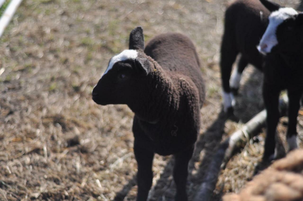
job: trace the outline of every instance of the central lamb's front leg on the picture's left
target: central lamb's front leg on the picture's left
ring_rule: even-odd
[[[148,197],[148,191],[151,188],[152,184],[152,161],[154,158],[154,152],[145,149],[145,147],[141,145],[140,141],[136,139],[134,143],[134,152],[138,163],[137,201],[146,201]]]

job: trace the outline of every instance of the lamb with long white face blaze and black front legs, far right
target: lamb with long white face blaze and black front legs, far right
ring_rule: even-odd
[[[274,158],[275,132],[279,120],[278,99],[281,90],[288,93],[289,150],[298,147],[297,116],[303,92],[303,13],[260,0],[268,10],[269,23],[258,45],[264,57],[263,99],[267,110],[267,134],[263,159]]]

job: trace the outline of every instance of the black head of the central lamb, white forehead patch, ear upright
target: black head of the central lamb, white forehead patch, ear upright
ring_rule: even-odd
[[[154,70],[143,48],[143,30],[137,27],[130,34],[129,50],[110,59],[105,73],[93,89],[92,98],[97,104],[129,104],[141,98],[141,88]]]

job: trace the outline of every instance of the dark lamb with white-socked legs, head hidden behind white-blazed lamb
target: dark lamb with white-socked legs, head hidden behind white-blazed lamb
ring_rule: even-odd
[[[262,56],[256,49],[268,25],[270,11],[259,0],[237,0],[225,12],[224,34],[221,43],[221,79],[223,108],[231,114],[235,104],[241,74],[248,63],[262,70]],[[231,75],[232,64],[241,53]]]

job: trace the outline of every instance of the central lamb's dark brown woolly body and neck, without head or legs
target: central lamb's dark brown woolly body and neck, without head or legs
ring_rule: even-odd
[[[190,39],[176,33],[158,35],[144,52],[154,67],[142,91],[147,105],[130,106],[134,135],[155,153],[177,153],[195,143],[200,129],[205,89],[199,59]]]

